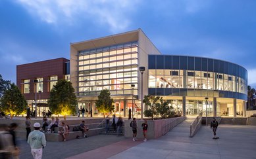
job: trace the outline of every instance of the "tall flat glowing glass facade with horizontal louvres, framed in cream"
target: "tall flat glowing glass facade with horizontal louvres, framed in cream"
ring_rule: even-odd
[[[78,96],[138,94],[138,42],[78,52]]]

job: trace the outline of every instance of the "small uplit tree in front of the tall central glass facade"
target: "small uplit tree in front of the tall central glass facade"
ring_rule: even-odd
[[[114,111],[115,106],[113,105],[114,99],[111,98],[109,90],[101,90],[101,93],[96,100],[96,107],[100,113],[103,113],[105,118],[105,113],[110,113]]]

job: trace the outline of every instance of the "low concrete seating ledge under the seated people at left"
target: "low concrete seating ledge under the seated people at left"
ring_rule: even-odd
[[[93,135],[98,135],[102,130],[103,128],[93,128],[88,130],[88,132],[86,132],[86,135],[88,135],[88,137]],[[66,135],[66,141],[76,139],[76,136],[78,135],[83,136],[84,134],[82,134],[82,131],[78,131],[78,132],[70,131]],[[46,138],[46,141],[63,141],[63,136],[59,135],[59,133],[45,133],[45,138]]]

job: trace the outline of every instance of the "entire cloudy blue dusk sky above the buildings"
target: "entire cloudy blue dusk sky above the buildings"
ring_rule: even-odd
[[[16,83],[16,65],[138,28],[162,54],[242,65],[256,88],[255,0],[0,0],[0,74]]]

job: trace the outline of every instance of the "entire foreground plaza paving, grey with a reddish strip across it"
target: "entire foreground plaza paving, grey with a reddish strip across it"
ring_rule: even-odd
[[[220,139],[213,140],[209,126],[189,137],[190,123],[191,119],[185,120],[166,135],[147,142],[115,135],[47,142],[43,158],[256,158],[256,126],[220,125]],[[23,139],[19,143],[20,158],[32,158],[29,145]]]

